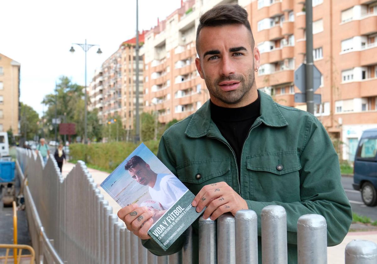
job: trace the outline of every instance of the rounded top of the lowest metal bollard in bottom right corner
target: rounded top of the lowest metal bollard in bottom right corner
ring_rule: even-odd
[[[352,240],[346,246],[346,264],[377,263],[377,244],[367,240]]]

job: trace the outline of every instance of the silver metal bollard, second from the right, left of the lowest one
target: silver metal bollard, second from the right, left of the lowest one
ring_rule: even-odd
[[[322,215],[300,216],[297,221],[297,255],[300,264],[327,263],[327,224]]]

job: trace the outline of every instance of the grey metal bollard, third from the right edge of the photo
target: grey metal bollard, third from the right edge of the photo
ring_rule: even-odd
[[[270,205],[262,209],[262,263],[287,264],[287,213],[284,207]]]

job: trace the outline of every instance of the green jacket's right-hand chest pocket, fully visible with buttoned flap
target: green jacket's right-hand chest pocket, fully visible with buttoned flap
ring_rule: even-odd
[[[246,162],[251,200],[300,201],[301,164],[296,150],[254,154]]]

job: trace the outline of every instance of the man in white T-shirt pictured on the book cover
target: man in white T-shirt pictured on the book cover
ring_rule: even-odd
[[[139,184],[149,186],[150,196],[161,204],[163,210],[152,210],[154,221],[160,218],[187,191],[187,187],[174,175],[155,173],[149,164],[139,156],[135,155],[130,158],[124,169],[128,170],[131,177]]]

